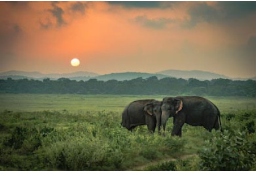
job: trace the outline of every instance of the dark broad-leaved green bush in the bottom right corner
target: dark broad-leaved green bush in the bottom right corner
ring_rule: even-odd
[[[212,139],[199,151],[201,170],[250,170],[255,163],[255,154],[246,133],[220,131],[212,133]]]

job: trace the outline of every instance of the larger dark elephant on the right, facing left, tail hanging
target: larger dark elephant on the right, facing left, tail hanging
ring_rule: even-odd
[[[209,132],[221,127],[220,111],[203,97],[166,97],[162,103],[161,124],[166,130],[166,121],[170,116],[174,117],[172,136],[181,137],[181,128],[184,123],[192,126],[203,126]]]

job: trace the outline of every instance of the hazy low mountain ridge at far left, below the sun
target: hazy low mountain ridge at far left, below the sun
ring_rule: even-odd
[[[97,73],[93,72],[73,72],[73,73],[50,73],[50,74],[43,74],[40,72],[23,72],[18,70],[11,70],[7,72],[0,73],[0,76],[5,77],[11,77],[11,76],[23,76],[27,78],[36,78],[36,79],[42,79],[42,78],[51,78],[51,79],[57,79],[57,78],[71,78],[71,77],[95,77],[97,76]]]

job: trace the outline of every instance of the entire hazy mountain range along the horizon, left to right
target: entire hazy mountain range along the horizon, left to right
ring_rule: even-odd
[[[58,78],[69,78],[75,79],[77,81],[84,80],[87,81],[89,79],[98,79],[100,81],[108,81],[110,79],[116,79],[118,81],[123,80],[130,80],[135,78],[148,78],[156,76],[158,79],[166,78],[166,77],[175,77],[175,78],[196,78],[199,80],[211,80],[217,78],[224,78],[224,79],[234,79],[234,80],[246,80],[246,79],[253,79],[256,80],[256,76],[253,78],[230,78],[222,74],[212,73],[212,72],[204,72],[200,70],[164,70],[157,73],[141,73],[141,72],[124,72],[124,73],[110,73],[99,75],[93,72],[73,72],[73,73],[51,73],[51,74],[43,74],[40,72],[24,72],[24,71],[17,71],[11,70],[8,72],[0,73],[0,79],[38,79],[42,80],[45,78],[50,79],[58,79]]]

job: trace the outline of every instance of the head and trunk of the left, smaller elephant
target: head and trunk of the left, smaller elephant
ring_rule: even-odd
[[[156,126],[158,127],[159,133],[160,133],[161,114],[162,114],[161,106],[162,106],[162,101],[158,101],[158,100],[154,100],[153,102],[147,103],[144,106],[144,111],[146,111],[148,115],[155,116]]]

